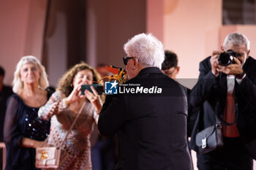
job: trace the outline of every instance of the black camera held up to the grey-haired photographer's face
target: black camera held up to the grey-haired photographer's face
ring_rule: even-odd
[[[233,50],[227,50],[227,52],[220,53],[219,55],[219,65],[228,66],[230,63],[236,63],[234,57],[238,57],[238,53],[233,52]]]

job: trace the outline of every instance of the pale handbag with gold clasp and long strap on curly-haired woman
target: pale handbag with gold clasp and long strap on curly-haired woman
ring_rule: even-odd
[[[83,102],[82,107],[80,108],[78,115],[75,117],[74,122],[69,128],[64,140],[61,142],[60,147],[42,147],[48,141],[45,139],[45,142],[42,143],[41,147],[36,148],[36,167],[37,169],[56,169],[59,167],[59,160],[61,158],[61,148],[67,140],[67,136],[69,135],[70,131],[72,130],[75,122],[78,120],[81,112],[83,111],[83,107],[85,107],[86,102]]]

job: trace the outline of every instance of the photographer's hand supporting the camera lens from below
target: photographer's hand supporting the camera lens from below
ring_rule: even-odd
[[[241,68],[241,62],[234,58],[234,61],[236,63],[231,63],[228,66],[219,66],[218,71],[223,72],[227,75],[233,74],[233,75],[239,75],[243,73],[243,69]]]

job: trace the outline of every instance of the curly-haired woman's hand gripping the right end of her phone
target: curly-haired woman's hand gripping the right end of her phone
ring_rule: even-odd
[[[99,94],[92,85],[90,88],[93,91],[93,93],[91,93],[89,90],[86,90],[85,96],[89,99],[89,101],[91,101],[91,104],[94,104],[94,107],[97,109],[97,112],[99,113],[99,111],[102,109],[102,100],[100,99]]]

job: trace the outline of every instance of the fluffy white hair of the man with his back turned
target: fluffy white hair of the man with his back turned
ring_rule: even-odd
[[[124,45],[124,51],[129,57],[136,57],[146,67],[156,66],[161,69],[165,60],[165,50],[162,42],[151,34],[138,34]]]

